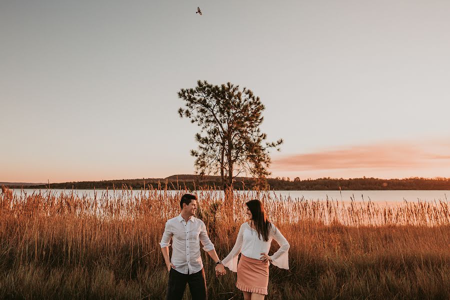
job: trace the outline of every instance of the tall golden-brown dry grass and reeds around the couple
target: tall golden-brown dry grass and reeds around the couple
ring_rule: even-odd
[[[167,271],[158,242],[184,192],[2,194],[0,298],[164,298]],[[198,217],[221,257],[244,221],[244,202],[264,202],[291,245],[290,269],[270,267],[268,299],[450,298],[446,200],[378,206],[270,192],[235,193],[232,202],[214,190],[196,194]],[[235,273],[215,278],[202,255],[209,297],[241,299]]]

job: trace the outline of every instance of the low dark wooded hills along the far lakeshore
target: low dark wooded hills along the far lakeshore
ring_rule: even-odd
[[[7,184],[9,187],[48,188],[48,184],[31,183],[32,185]],[[6,184],[5,184],[6,185]],[[236,177],[235,189],[253,189],[261,186],[261,180],[251,177]],[[394,190],[394,189],[424,189],[424,190],[450,190],[450,178],[317,178],[300,180],[298,177],[266,178],[262,182],[264,189],[274,190]],[[102,181],[77,181],[50,183],[50,188],[88,189],[88,188],[157,188],[157,189],[198,189],[212,187],[221,189],[219,176],[199,176],[190,174],[171,175],[166,178],[117,179]]]

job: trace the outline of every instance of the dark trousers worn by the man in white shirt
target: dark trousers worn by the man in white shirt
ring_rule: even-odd
[[[189,284],[192,300],[207,300],[206,279],[204,277],[204,268],[196,273],[183,274],[171,268],[169,271],[169,280],[167,284],[167,300],[181,300]]]

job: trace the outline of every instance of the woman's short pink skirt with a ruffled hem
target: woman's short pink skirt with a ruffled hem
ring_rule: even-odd
[[[240,254],[236,287],[242,291],[267,294],[268,262]]]

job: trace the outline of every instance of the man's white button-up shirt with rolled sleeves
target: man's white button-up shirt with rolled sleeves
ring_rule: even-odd
[[[181,214],[167,220],[159,243],[161,248],[170,246],[170,238],[172,239],[170,262],[175,266],[175,270],[183,274],[192,274],[203,268],[199,241],[203,245],[203,250],[214,249],[204,222],[193,216],[187,222]]]

